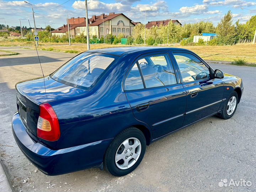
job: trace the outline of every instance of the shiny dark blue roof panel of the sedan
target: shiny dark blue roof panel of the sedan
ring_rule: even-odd
[[[175,47],[114,47],[114,48],[103,48],[103,49],[94,49],[90,50],[89,52],[93,53],[105,53],[105,54],[112,54],[112,55],[118,55],[121,56],[125,53],[133,53],[138,51],[160,51],[160,50],[186,50],[187,49],[181,49],[181,48],[175,48]]]

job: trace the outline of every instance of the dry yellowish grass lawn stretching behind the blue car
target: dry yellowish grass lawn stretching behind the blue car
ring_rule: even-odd
[[[33,46],[33,42],[8,42],[0,41],[0,46]],[[91,44],[91,49],[125,47],[126,45],[112,44]],[[244,59],[246,65],[255,66],[256,63],[256,44],[240,44],[235,46],[169,46],[192,50],[204,60],[219,60],[232,62],[235,59]],[[66,53],[80,53],[87,50],[86,44],[72,44],[69,46],[64,43],[40,43],[39,49],[49,51],[62,51]],[[0,47],[1,49],[1,47]],[[253,63],[253,64],[250,64]]]

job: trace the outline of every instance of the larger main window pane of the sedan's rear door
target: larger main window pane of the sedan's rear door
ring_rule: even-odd
[[[144,57],[138,60],[146,88],[177,83],[174,69],[167,54]]]

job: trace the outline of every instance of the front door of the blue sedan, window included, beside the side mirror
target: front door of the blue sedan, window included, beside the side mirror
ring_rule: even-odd
[[[183,126],[216,113],[223,102],[223,81],[212,78],[209,66],[197,55],[173,52],[173,56],[187,94]]]

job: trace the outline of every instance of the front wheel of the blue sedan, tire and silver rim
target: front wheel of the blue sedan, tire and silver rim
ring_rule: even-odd
[[[231,107],[230,107],[230,103],[233,103],[233,104],[231,104]],[[226,100],[225,105],[223,106],[223,109],[222,109],[222,114],[220,115],[220,117],[222,119],[231,118],[235,114],[237,106],[238,106],[238,94],[235,91],[233,91],[231,93],[231,95],[229,96],[229,98]]]

